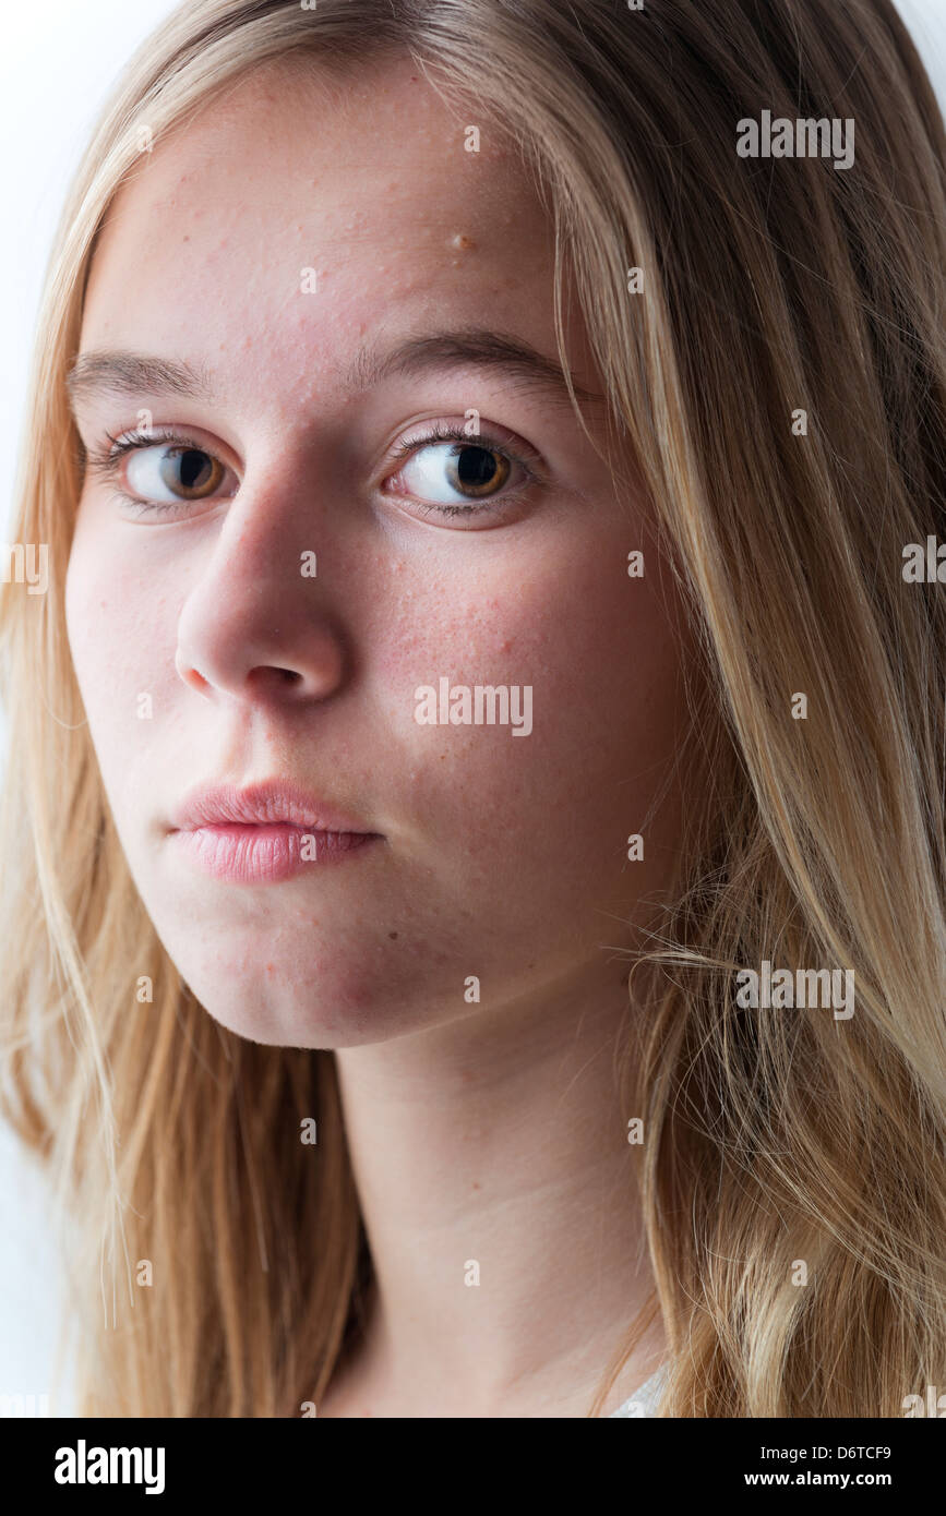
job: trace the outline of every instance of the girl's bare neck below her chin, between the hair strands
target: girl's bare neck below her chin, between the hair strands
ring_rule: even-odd
[[[614,1072],[626,984],[581,1001],[337,1054],[374,1286],[320,1414],[587,1414],[653,1280]],[[603,1414],[661,1355],[658,1319]]]

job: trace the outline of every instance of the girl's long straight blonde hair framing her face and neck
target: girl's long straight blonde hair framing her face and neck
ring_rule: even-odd
[[[300,1414],[370,1275],[334,1055],[217,1025],[121,852],[65,635],[65,377],[143,133],[262,62],[385,49],[532,165],[559,344],[570,274],[713,694],[714,787],[622,1066],[661,1413],[899,1416],[946,1384],[946,611],[901,572],[946,540],[946,143],[888,0],[191,0],[127,67],[41,311],[15,532],[49,544],[49,593],[0,602],[3,1108],[70,1217],[82,1408]],[[740,159],[764,109],[854,120],[855,164]],[[855,1014],[740,1008],[764,960],[854,969]],[[314,1111],[315,1155],[287,1119]]]

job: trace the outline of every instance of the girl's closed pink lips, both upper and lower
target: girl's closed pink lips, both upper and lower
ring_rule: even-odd
[[[282,782],[193,790],[170,835],[206,873],[235,884],[276,884],[381,841],[379,832]]]

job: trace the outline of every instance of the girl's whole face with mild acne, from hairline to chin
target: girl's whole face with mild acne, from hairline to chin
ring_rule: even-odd
[[[623,994],[606,949],[676,846],[678,790],[647,813],[681,653],[644,500],[555,379],[552,270],[515,155],[406,61],[244,79],[102,232],[77,423],[147,446],[86,473],[70,643],[156,931],[255,1041]],[[596,391],[576,317],[569,346]],[[267,782],[309,800],[183,814]]]

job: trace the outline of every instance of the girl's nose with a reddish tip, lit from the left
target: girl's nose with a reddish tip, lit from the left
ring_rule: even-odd
[[[335,694],[344,637],[317,568],[314,543],[300,541],[299,487],[241,488],[180,611],[179,678],[208,699]]]

